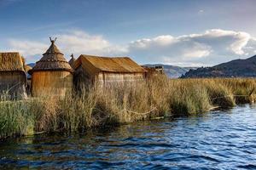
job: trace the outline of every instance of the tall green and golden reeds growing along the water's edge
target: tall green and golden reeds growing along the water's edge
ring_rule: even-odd
[[[0,100],[0,139],[38,132],[75,132],[90,127],[201,114],[213,106],[253,103],[254,79],[154,77],[137,85],[87,88],[64,99]],[[249,95],[252,94],[252,95]]]

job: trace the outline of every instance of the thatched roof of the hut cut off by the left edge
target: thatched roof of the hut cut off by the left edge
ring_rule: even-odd
[[[23,71],[24,63],[18,52],[0,53],[0,71]]]

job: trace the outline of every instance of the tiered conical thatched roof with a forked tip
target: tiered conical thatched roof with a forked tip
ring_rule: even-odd
[[[42,59],[40,59],[36,65],[29,71],[30,74],[34,71],[70,71],[73,69],[68,64],[64,55],[55,46],[55,40],[50,38],[51,45],[49,49],[43,54]]]

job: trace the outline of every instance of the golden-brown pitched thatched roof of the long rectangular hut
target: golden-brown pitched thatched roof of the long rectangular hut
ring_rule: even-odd
[[[89,68],[93,71],[100,72],[119,72],[134,73],[146,72],[142,66],[137,65],[135,61],[129,57],[100,57],[82,54],[73,64],[73,69],[77,69],[79,65]]]

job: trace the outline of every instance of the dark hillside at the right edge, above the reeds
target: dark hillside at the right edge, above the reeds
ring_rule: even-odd
[[[190,70],[182,77],[256,77],[256,55],[248,59],[235,59],[212,67]]]

